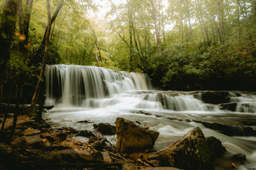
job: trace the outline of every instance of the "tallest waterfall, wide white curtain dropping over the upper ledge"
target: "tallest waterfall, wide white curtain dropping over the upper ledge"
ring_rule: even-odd
[[[64,64],[46,66],[45,72],[45,103],[48,105],[61,103],[81,106],[84,100],[90,103],[91,99],[103,99],[126,91],[151,89],[148,75],[141,73]]]

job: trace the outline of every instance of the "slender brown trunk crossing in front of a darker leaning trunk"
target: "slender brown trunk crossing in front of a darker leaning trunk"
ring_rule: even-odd
[[[32,111],[31,113],[35,111],[35,104],[37,102],[37,98],[41,89],[42,80],[44,78],[45,65],[46,65],[46,60],[47,60],[48,50],[49,50],[49,37],[50,37],[52,23],[51,23],[51,13],[50,13],[50,2],[49,0],[46,0],[46,1],[47,1],[48,24],[47,24],[47,31],[45,36],[45,52],[44,52],[39,79],[38,79],[37,86],[35,88],[35,92],[31,101],[31,106],[30,106],[30,110]]]

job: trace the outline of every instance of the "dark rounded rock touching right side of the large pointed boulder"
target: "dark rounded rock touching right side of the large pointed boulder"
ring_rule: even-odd
[[[215,137],[207,137],[205,138],[209,149],[210,149],[210,155],[212,158],[217,158],[218,156],[222,155],[226,148],[222,146],[221,141]]]

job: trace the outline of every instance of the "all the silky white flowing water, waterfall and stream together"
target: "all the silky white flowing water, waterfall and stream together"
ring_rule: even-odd
[[[224,111],[218,105],[204,103],[187,92],[153,91],[144,74],[90,66],[47,66],[46,104],[55,106],[43,116],[51,118],[50,124],[55,127],[67,126],[77,130],[93,130],[93,123],[108,122],[115,125],[117,117],[138,121],[160,132],[155,149],[170,145],[193,127],[199,126],[206,137],[214,136],[222,141],[229,151],[226,157],[237,153],[246,154],[246,167],[256,168],[255,136],[229,137],[200,123],[168,119],[235,125],[256,122],[256,113],[253,111],[256,96],[236,94],[230,92],[230,102],[238,102],[236,111]],[[93,123],[76,123],[80,120],[91,120]],[[255,126],[251,127],[256,129]],[[245,169],[245,166],[241,165],[239,169]]]

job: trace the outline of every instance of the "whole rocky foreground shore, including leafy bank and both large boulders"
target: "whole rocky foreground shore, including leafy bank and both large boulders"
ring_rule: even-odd
[[[8,114],[7,136],[13,116]],[[0,126],[2,122],[3,114],[0,114]],[[165,149],[156,151],[154,143],[159,132],[138,123],[117,118],[116,127],[100,123],[94,124],[94,132],[78,131],[69,127],[50,127],[44,119],[19,115],[11,143],[0,143],[0,169],[208,170],[214,169],[226,152],[221,141],[214,137],[205,138],[199,127],[191,129]],[[105,134],[116,134],[115,146],[104,138]],[[74,136],[87,137],[89,141],[81,142]],[[224,166],[232,169],[245,160],[245,155],[238,154]]]

